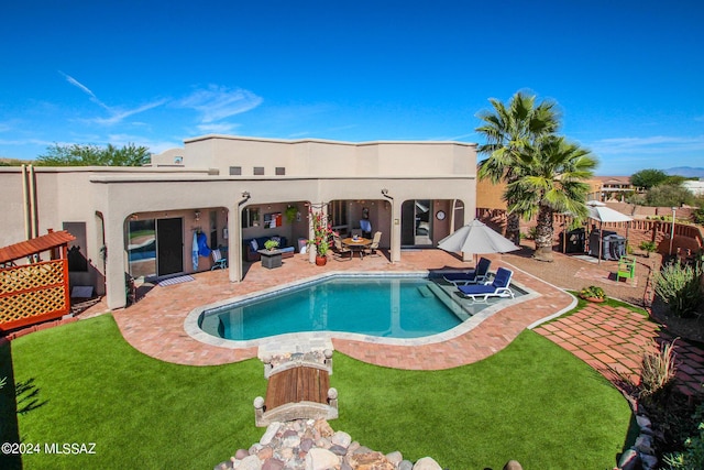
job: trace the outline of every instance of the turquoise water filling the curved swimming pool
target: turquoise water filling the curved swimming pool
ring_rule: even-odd
[[[249,340],[301,331],[344,331],[419,338],[461,320],[419,277],[336,277],[263,299],[206,310],[201,329],[218,338]]]

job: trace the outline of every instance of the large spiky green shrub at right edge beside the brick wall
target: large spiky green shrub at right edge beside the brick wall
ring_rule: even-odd
[[[656,294],[675,316],[692,317],[704,298],[701,278],[702,263],[690,266],[676,260],[656,274]]]

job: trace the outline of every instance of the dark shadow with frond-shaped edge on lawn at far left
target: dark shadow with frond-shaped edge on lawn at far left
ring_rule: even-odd
[[[40,389],[33,378],[15,383],[12,343],[6,338],[0,338],[0,442],[3,444],[0,468],[22,469],[22,455],[18,447],[22,442],[18,415],[30,413],[47,402],[41,401]],[[10,447],[6,449],[8,445]]]

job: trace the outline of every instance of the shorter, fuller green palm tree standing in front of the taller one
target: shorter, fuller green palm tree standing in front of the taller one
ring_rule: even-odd
[[[547,136],[522,149],[506,198],[509,211],[525,219],[537,216],[534,258],[552,261],[554,212],[569,212],[578,220],[586,217],[585,179],[592,177],[597,160],[586,149],[562,136]]]

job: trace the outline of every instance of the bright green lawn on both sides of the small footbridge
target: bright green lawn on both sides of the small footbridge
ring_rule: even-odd
[[[38,442],[25,469],[212,468],[257,441],[256,360],[218,367],[161,362],[132,349],[103,315],[0,348],[2,441]],[[12,383],[33,379],[37,405],[14,418]],[[433,457],[452,470],[610,469],[630,411],[600,374],[532,331],[480,363],[411,372],[336,353],[331,422],[375,450]],[[21,395],[26,396],[26,393]],[[26,403],[26,402],[23,402]],[[44,453],[45,442],[95,442],[96,455]],[[20,468],[0,456],[0,468]]]

